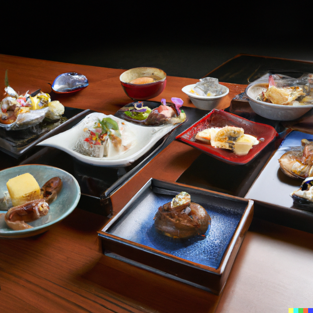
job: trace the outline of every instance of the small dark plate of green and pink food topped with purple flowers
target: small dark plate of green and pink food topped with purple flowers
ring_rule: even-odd
[[[166,99],[162,99],[162,104],[153,110],[148,106],[144,106],[142,101],[138,101],[130,108],[118,110],[116,116],[126,121],[146,126],[184,122],[186,120],[186,114],[183,110],[180,110],[183,100],[175,97],[172,97],[171,100],[172,102],[166,102]]]

